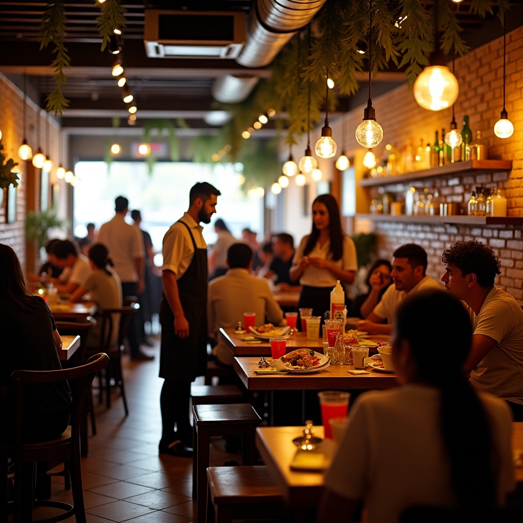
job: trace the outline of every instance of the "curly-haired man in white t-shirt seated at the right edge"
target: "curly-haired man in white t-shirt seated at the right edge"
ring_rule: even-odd
[[[523,421],[523,311],[494,285],[501,263],[481,242],[459,241],[441,256],[445,288],[462,300],[474,334],[465,372],[478,390],[507,401],[514,420]]]

